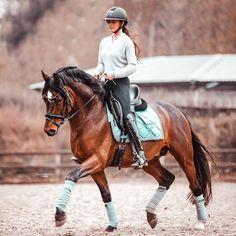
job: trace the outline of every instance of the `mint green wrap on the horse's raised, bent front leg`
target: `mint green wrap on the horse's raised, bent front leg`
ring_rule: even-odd
[[[75,185],[75,182],[71,180],[65,180],[63,192],[60,198],[58,199],[58,202],[56,205],[56,207],[59,210],[64,211],[64,209],[66,208],[67,203],[69,202],[69,199],[70,199],[71,191],[74,188],[74,185]]]

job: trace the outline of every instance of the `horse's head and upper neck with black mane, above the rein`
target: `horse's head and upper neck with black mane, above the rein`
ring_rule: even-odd
[[[63,67],[52,76],[42,71],[45,80],[42,96],[46,104],[44,131],[49,136],[57,133],[65,119],[71,120],[97,96],[104,99],[104,89],[91,75],[77,67]]]

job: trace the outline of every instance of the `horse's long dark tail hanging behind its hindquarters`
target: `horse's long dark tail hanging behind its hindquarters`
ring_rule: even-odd
[[[196,169],[197,181],[201,186],[201,190],[205,199],[205,204],[207,205],[212,199],[211,172],[207,156],[210,157],[214,165],[215,162],[210,152],[201,143],[200,139],[193,132],[192,128],[191,128],[191,134],[192,134],[194,165]],[[188,199],[190,200],[190,202],[194,203],[194,196],[192,193],[189,193]]]

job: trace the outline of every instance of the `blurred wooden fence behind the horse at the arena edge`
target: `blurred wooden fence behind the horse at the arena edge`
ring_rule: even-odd
[[[236,148],[211,150],[223,180],[236,180]],[[0,183],[55,183],[65,178],[76,164],[70,150],[7,151],[0,150]],[[163,165],[176,175],[183,175],[174,158],[162,158]],[[114,170],[114,168],[112,168]],[[212,165],[213,175],[216,169]],[[141,172],[142,173],[142,172]]]

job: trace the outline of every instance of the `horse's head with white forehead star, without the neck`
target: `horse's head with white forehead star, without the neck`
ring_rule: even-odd
[[[68,118],[73,107],[73,96],[57,74],[48,76],[43,71],[41,72],[45,80],[42,92],[46,104],[44,131],[48,136],[54,136],[57,134],[60,125]]]

